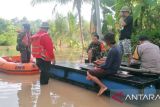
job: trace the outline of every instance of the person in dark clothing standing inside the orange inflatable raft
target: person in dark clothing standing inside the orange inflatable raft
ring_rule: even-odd
[[[21,53],[21,62],[28,63],[30,62],[31,49],[30,49],[30,25],[23,24],[23,30],[19,32],[17,37],[17,51]]]

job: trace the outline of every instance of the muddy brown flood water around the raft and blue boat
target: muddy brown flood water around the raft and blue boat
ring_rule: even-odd
[[[8,50],[6,50],[8,51]],[[2,51],[1,51],[2,52]],[[7,53],[7,52],[6,52]],[[60,54],[61,53],[61,54]],[[63,54],[64,53],[64,54]],[[73,53],[73,54],[71,54]],[[77,61],[83,55],[57,52],[59,61]],[[17,53],[13,53],[14,55]],[[1,54],[2,56],[2,54]],[[8,75],[0,72],[0,107],[159,107],[160,102],[143,105],[121,104],[110,97],[97,97],[95,92],[50,79],[48,85],[39,84],[38,75]]]

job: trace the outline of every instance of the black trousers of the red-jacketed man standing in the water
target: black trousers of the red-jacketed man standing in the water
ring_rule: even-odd
[[[51,62],[45,61],[41,58],[36,59],[36,64],[41,70],[40,73],[40,84],[48,84],[49,81],[49,70],[51,68]]]

